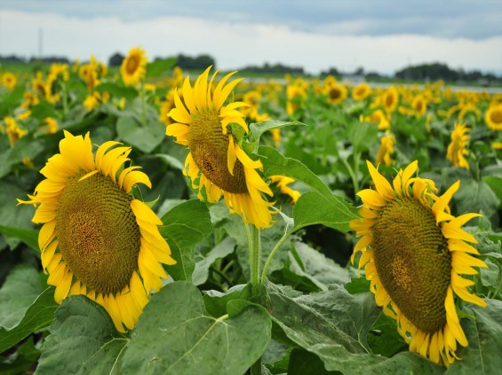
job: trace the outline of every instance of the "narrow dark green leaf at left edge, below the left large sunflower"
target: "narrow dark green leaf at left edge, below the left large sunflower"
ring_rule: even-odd
[[[9,331],[0,328],[0,353],[12,348],[31,333],[52,324],[57,307],[54,301],[54,288],[45,289],[28,307],[19,324]]]

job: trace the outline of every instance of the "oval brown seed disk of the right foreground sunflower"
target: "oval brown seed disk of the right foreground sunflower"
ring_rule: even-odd
[[[373,225],[378,277],[394,303],[423,332],[446,324],[451,254],[434,215],[418,199],[389,202]]]

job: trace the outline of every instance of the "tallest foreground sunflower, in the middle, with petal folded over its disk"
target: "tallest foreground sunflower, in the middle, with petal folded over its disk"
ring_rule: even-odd
[[[230,123],[235,123],[246,133],[249,131],[243,113],[236,110],[245,104],[223,105],[242,79],[226,85],[235,72],[227,74],[212,92],[212,82],[218,71],[212,74],[208,84],[210,70],[211,66],[197,78],[193,88],[189,78],[185,79],[185,104],[174,91],[176,106],[169,116],[175,122],[167,126],[165,133],[176,137],[179,145],[188,146],[190,152],[184,172],[190,177],[192,187],[199,192],[200,199],[215,203],[223,195],[230,212],[240,215],[245,223],[267,228],[272,221],[269,210],[272,203],[267,202],[261,193],[273,194],[257,171],[262,164],[259,160],[251,160],[227,128]]]

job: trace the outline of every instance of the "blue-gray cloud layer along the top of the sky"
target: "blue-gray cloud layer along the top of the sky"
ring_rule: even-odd
[[[0,9],[55,12],[124,21],[185,16],[260,23],[326,35],[432,35],[485,39],[502,35],[502,1],[432,0],[18,0]],[[501,46],[502,48],[502,46]]]

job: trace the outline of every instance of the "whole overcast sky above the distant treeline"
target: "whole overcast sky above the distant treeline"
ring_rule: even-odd
[[[208,53],[222,69],[283,63],[393,74],[442,62],[502,74],[502,0],[0,0],[0,55],[102,61]]]

